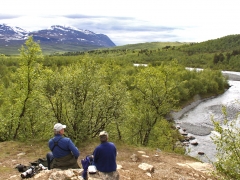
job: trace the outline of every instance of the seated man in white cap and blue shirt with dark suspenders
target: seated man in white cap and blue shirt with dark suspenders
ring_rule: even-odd
[[[65,128],[66,125],[61,123],[54,125],[54,137],[48,142],[51,150],[47,154],[48,169],[79,168],[77,159],[80,152],[70,138],[62,137]]]

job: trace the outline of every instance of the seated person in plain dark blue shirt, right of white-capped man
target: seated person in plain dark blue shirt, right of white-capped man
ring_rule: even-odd
[[[117,171],[117,149],[112,142],[108,142],[108,133],[102,131],[99,134],[101,144],[98,145],[94,152],[94,165],[99,171],[99,175],[102,179],[119,179],[119,173]]]

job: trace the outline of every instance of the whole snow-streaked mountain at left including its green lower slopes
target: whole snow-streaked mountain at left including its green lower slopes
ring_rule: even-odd
[[[24,44],[28,36],[33,36],[34,41],[39,41],[44,54],[116,46],[104,34],[96,34],[74,27],[54,25],[49,29],[28,32],[19,27],[0,24],[0,54],[19,54],[18,49]]]

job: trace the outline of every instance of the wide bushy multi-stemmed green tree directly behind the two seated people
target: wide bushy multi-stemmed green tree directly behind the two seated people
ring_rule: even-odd
[[[68,125],[69,136],[84,141],[118,121],[126,88],[117,71],[117,66],[99,66],[85,57],[48,76],[46,96],[57,121]]]

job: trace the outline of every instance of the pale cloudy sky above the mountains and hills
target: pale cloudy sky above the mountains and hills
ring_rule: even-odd
[[[0,0],[0,24],[107,35],[117,46],[203,42],[240,34],[239,0]]]

